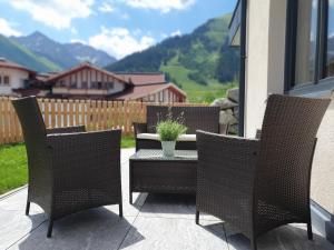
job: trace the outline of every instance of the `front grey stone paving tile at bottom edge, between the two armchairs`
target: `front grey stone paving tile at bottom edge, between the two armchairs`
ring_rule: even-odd
[[[138,217],[120,249],[217,250],[228,249],[222,223],[197,226],[187,219]]]

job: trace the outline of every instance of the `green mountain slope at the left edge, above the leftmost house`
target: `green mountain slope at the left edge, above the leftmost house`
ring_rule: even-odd
[[[0,57],[39,72],[58,71],[60,67],[43,57],[36,56],[11,39],[0,34]]]

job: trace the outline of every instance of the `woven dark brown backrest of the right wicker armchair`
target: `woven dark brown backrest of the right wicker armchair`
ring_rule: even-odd
[[[272,206],[269,209],[307,217],[316,133],[328,104],[327,99],[268,98],[254,186],[255,209]],[[278,223],[277,218],[273,221]]]

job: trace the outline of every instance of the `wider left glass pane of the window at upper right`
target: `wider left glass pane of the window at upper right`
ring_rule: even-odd
[[[314,81],[318,0],[298,4],[296,84]]]

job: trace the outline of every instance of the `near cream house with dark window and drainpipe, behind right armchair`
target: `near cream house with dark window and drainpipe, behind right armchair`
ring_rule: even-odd
[[[269,93],[334,100],[334,1],[239,0],[230,26],[240,48],[242,136],[261,128]],[[334,242],[334,101],[318,131],[312,172],[313,223]]]

